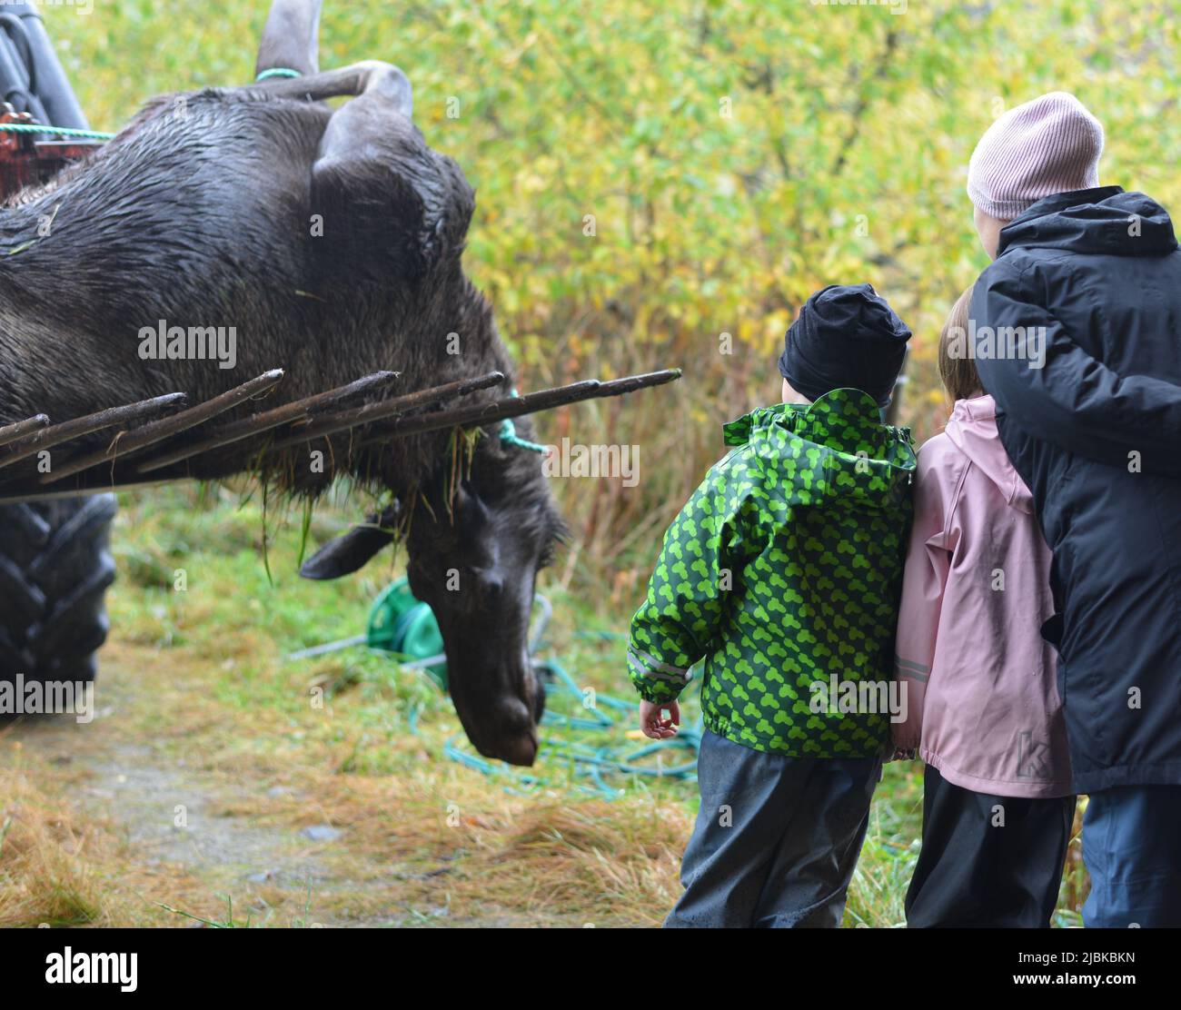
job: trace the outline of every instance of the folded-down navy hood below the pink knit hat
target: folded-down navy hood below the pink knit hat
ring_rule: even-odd
[[[1014,248],[1161,256],[1176,247],[1173,221],[1161,204],[1105,185],[1039,200],[1001,229],[997,258]]]

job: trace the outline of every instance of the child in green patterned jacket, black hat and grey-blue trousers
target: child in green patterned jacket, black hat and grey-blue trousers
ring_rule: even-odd
[[[706,728],[667,926],[840,924],[906,715],[892,671],[915,456],[881,408],[909,337],[869,285],[814,294],[784,340],[784,403],[725,426],[732,450],[665,534],[629,675],[661,739],[704,659]]]

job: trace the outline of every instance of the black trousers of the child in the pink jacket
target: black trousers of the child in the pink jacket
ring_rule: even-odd
[[[922,849],[906,893],[907,926],[1048,927],[1074,819],[1074,796],[973,793],[928,764]]]

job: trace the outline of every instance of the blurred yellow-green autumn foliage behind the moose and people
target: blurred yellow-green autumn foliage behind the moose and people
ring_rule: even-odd
[[[46,17],[115,128],[152,93],[249,79],[266,6]],[[938,430],[934,343],[985,265],[966,164],[998,113],[1074,91],[1107,128],[1103,181],[1176,203],[1179,33],[1169,0],[326,0],[322,63],[410,74],[428,141],[477,188],[468,265],[522,387],[685,369],[541,423],[547,442],[640,447],[634,488],[557,482],[568,574],[594,558],[626,595],[719,423],[777,398],[777,347],[816,288],[892,301],[915,332],[903,421]]]

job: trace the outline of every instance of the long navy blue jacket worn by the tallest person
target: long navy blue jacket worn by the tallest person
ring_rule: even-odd
[[[1043,634],[1061,657],[1074,787],[1181,784],[1181,250],[1173,222],[1153,200],[1118,187],[1046,197],[1000,233],[971,318],[993,327],[993,351],[1025,356],[978,353],[977,366],[1053,550],[1057,614]],[[1024,339],[998,327],[1024,327]],[[977,332],[978,347],[986,335]]]

